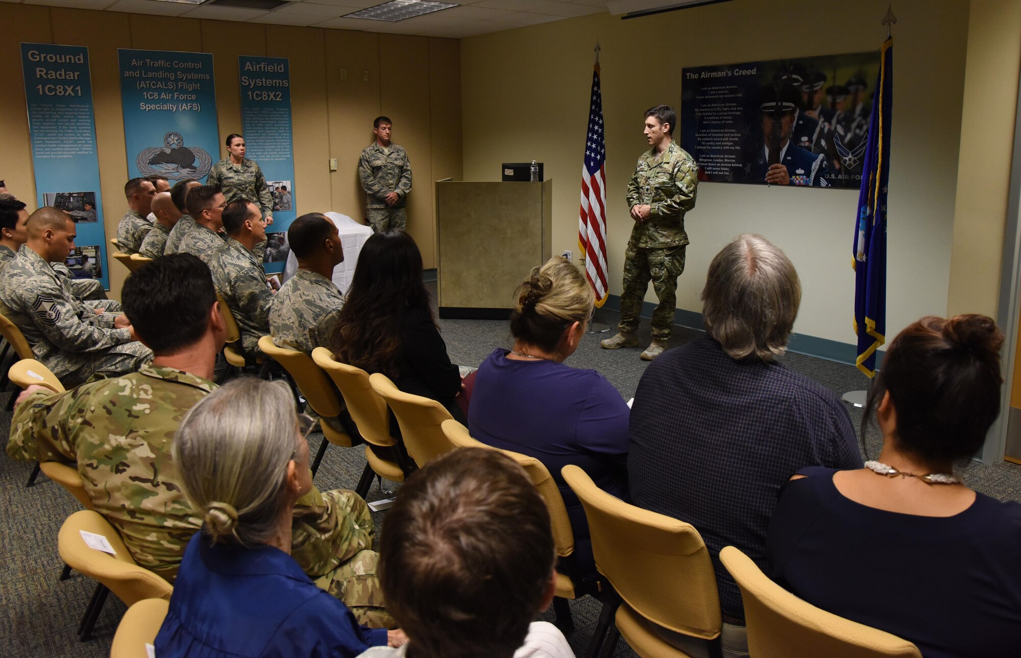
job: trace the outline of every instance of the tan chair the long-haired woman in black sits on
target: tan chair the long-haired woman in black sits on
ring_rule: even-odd
[[[401,463],[403,458],[400,447],[397,439],[390,435],[386,401],[373,389],[369,373],[338,362],[326,347],[313,349],[312,361],[330,376],[344,396],[347,412],[357,425],[358,433],[370,444],[366,445],[366,461],[370,468],[380,477],[392,482],[403,482],[404,476],[411,471],[411,465]],[[375,445],[380,454],[392,455],[393,459],[380,457],[371,445]],[[372,484],[372,474],[369,474],[368,480],[366,475],[362,473],[358,487],[360,489],[364,484],[364,490],[368,491]]]

